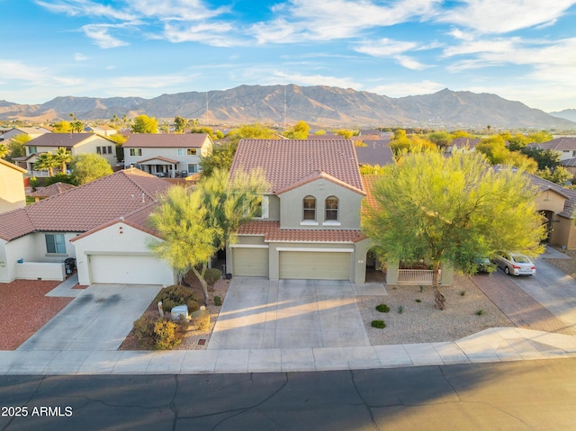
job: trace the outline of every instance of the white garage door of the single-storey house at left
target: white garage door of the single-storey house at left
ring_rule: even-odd
[[[154,256],[91,255],[92,283],[172,284],[174,273]]]

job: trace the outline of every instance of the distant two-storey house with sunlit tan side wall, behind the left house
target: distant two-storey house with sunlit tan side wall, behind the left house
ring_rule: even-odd
[[[26,142],[25,147],[26,156],[14,160],[29,171],[34,169],[38,155],[48,152],[54,154],[58,148],[66,148],[72,156],[99,154],[111,166],[116,166],[116,143],[94,133],[46,133]]]

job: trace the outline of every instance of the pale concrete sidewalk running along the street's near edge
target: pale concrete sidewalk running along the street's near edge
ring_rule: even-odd
[[[163,352],[0,352],[0,374],[285,373],[576,357],[576,337],[490,328],[455,342]]]

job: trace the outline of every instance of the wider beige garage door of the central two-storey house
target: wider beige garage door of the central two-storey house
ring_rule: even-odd
[[[280,278],[349,280],[350,253],[281,251]]]

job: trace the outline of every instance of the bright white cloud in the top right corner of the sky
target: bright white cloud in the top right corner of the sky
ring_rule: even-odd
[[[574,0],[463,0],[437,14],[438,22],[450,22],[480,33],[505,33],[554,23]]]

